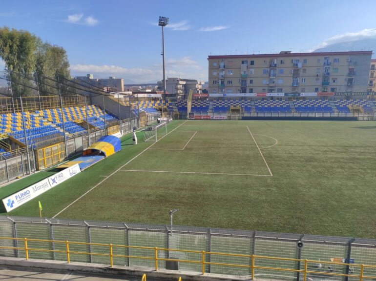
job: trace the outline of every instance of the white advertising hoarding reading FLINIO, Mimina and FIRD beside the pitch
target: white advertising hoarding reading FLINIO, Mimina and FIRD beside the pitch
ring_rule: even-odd
[[[10,212],[22,204],[30,201],[47,190],[55,187],[57,184],[73,177],[77,173],[81,172],[78,164],[73,165],[72,167],[66,168],[63,171],[56,173],[52,177],[48,177],[42,181],[39,181],[29,187],[26,187],[15,194],[12,194],[4,199],[2,203],[4,204],[5,210]],[[52,183],[51,183],[52,182]]]

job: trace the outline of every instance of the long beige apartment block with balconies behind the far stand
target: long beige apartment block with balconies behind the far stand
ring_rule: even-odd
[[[366,92],[372,51],[209,56],[209,94]]]

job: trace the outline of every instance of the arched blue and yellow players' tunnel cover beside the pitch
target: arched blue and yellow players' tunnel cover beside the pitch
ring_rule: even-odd
[[[96,156],[101,155],[108,157],[115,152],[120,151],[121,144],[120,139],[115,136],[104,136],[100,138],[97,142],[90,145],[84,150],[82,155],[84,156]]]

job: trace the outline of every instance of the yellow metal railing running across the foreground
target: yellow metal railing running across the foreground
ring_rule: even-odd
[[[30,252],[53,252],[53,253],[65,253],[66,261],[70,263],[71,255],[89,255],[89,256],[104,256],[109,258],[109,264],[113,266],[113,258],[135,258],[135,259],[145,259],[154,261],[154,269],[158,271],[158,261],[177,261],[177,262],[187,262],[187,263],[196,263],[201,264],[201,273],[205,274],[205,265],[219,265],[227,266],[234,268],[249,268],[251,270],[251,278],[254,278],[255,269],[267,269],[273,271],[285,271],[285,272],[296,272],[303,273],[303,281],[307,281],[307,274],[317,274],[317,275],[329,275],[329,276],[341,276],[341,277],[352,277],[356,278],[359,281],[364,279],[376,279],[376,276],[368,276],[364,274],[364,269],[371,268],[376,270],[376,265],[364,265],[356,263],[343,263],[335,261],[313,261],[313,260],[301,260],[301,259],[290,259],[290,258],[278,258],[278,257],[268,257],[268,256],[258,256],[258,255],[243,255],[243,254],[230,254],[230,253],[219,253],[219,252],[206,252],[206,251],[195,251],[195,250],[181,250],[181,249],[168,249],[168,248],[158,248],[158,247],[146,247],[146,246],[126,246],[126,245],[117,245],[117,244],[104,244],[104,243],[86,243],[86,242],[73,242],[73,241],[58,241],[58,240],[42,240],[42,239],[28,239],[28,238],[9,238],[9,237],[0,237],[0,241],[22,241],[23,247],[11,247],[11,246],[0,246],[0,249],[15,249],[25,251],[25,258],[29,260]],[[29,242],[46,242],[46,243],[58,243],[65,245],[63,250],[55,249],[45,249],[45,248],[31,248],[28,246]],[[86,246],[102,246],[108,249],[108,253],[92,253],[92,252],[81,252],[81,251],[72,251],[69,249],[71,245],[86,245]],[[132,256],[132,255],[118,255],[113,253],[114,248],[128,248],[128,249],[142,249],[150,250],[150,257],[145,256]],[[201,256],[200,260],[178,260],[178,259],[169,259],[169,258],[159,258],[159,251],[173,251],[173,252],[182,252],[182,253],[195,253]],[[251,259],[251,265],[249,264],[239,264],[239,263],[223,263],[223,262],[210,262],[205,261],[208,255],[215,256],[228,256],[228,257],[240,257],[240,258],[249,258]],[[273,261],[293,261],[293,262],[302,262],[304,264],[303,269],[292,269],[292,268],[282,268],[282,267],[272,267],[272,266],[259,266],[255,265],[255,261],[258,260],[273,260]],[[344,274],[338,272],[329,272],[329,271],[317,271],[309,269],[310,264],[329,264],[329,265],[340,265],[340,266],[352,266],[352,268],[358,268],[359,274]],[[312,267],[312,266],[311,266]],[[354,272],[354,270],[352,270]],[[146,275],[143,276],[143,281],[146,281]],[[179,279],[180,280],[180,279]]]

